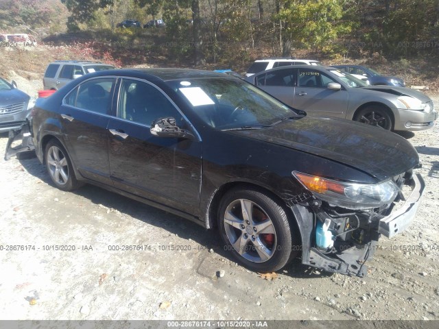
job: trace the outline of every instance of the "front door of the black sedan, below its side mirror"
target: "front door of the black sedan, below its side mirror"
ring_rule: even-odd
[[[173,117],[178,127],[191,129],[157,86],[121,80],[117,113],[108,124],[111,178],[121,190],[193,212],[199,202],[201,142],[154,136],[152,121],[163,117]]]

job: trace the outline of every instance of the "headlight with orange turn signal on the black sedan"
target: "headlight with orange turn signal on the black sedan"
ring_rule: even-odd
[[[379,184],[362,184],[329,180],[298,171],[293,171],[292,174],[305,188],[331,206],[377,208],[392,202],[399,191],[398,186],[391,180]]]

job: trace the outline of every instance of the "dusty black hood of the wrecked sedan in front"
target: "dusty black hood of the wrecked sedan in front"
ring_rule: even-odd
[[[419,162],[416,149],[405,138],[343,119],[304,117],[234,133],[341,162],[380,181],[404,173]]]

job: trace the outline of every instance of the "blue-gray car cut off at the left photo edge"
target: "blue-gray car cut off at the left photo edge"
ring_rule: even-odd
[[[0,78],[0,132],[16,129],[25,121],[34,99]]]

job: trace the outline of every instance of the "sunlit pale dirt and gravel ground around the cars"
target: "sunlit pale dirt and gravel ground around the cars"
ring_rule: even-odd
[[[403,136],[423,162],[423,205],[363,279],[296,262],[264,280],[215,231],[95,186],[64,193],[36,158],[0,160],[0,319],[439,319],[439,126]]]

